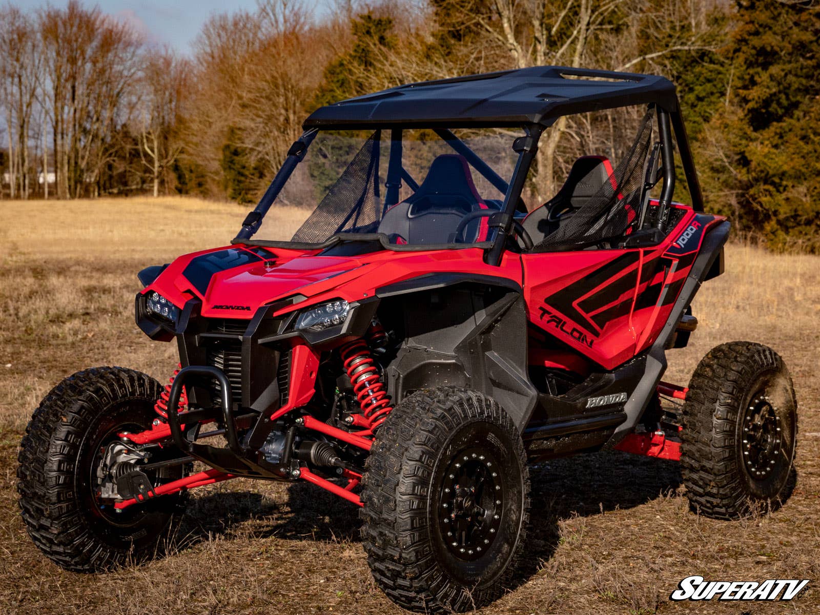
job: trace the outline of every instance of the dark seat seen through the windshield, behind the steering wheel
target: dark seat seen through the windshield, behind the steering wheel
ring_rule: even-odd
[[[449,244],[464,216],[487,208],[473,184],[467,159],[460,154],[443,154],[430,165],[416,192],[385,212],[378,232],[398,235],[399,244]],[[481,218],[468,224],[463,232],[465,241],[481,240],[481,235],[486,235],[486,222]]]

